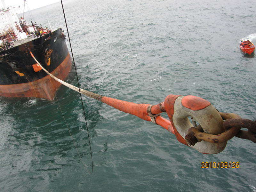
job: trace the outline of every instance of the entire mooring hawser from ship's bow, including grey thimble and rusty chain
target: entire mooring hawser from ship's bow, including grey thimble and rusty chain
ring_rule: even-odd
[[[30,54],[49,76],[78,92],[77,87],[53,76],[42,67],[32,52]],[[162,126],[172,132],[179,142],[195,148],[201,153],[220,153],[226,147],[227,140],[234,136],[250,139],[256,143],[256,122],[241,119],[237,114],[221,113],[209,101],[200,97],[168,95],[164,102],[150,105],[117,100],[83,89],[80,89],[80,91],[82,94],[106,103],[120,111]],[[167,113],[169,120],[160,115],[162,112]],[[195,123],[192,124],[188,117],[192,117]],[[228,119],[232,119],[232,121]],[[196,122],[198,126],[196,126]],[[240,130],[241,127],[248,128],[248,131]]]

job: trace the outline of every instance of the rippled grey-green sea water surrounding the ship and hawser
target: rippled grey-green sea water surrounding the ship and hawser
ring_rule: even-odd
[[[256,57],[239,49],[241,39],[256,44],[255,1],[75,0],[64,9],[82,89],[148,104],[195,95],[256,120]],[[60,2],[31,13],[67,35]],[[74,66],[67,82],[77,86]],[[256,191],[255,143],[235,137],[221,153],[201,154],[82,96],[90,174],[79,93],[62,86],[56,96],[82,160],[57,99],[0,97],[0,191]]]

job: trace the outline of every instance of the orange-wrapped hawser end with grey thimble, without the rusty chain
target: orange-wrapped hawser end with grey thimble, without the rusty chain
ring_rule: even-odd
[[[222,117],[211,103],[192,95],[168,95],[164,102],[151,107],[151,113],[147,112],[150,106],[149,104],[136,104],[105,96],[102,97],[101,101],[120,111],[138,116],[146,121],[151,121],[150,116],[154,114],[166,112],[170,120],[162,116],[156,116],[156,124],[175,134],[177,140],[185,145],[188,145],[185,140],[188,129],[193,127],[188,117],[193,117],[203,127],[206,133],[220,134],[225,131]],[[202,140],[194,146],[189,147],[195,148],[201,153],[215,154],[220,153],[226,147],[226,144],[227,142],[209,143]]]

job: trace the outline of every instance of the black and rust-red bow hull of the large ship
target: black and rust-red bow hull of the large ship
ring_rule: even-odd
[[[52,75],[65,80],[71,59],[62,29],[0,52],[0,96],[53,100],[60,83],[37,67],[30,51]],[[33,66],[34,65],[34,66]]]

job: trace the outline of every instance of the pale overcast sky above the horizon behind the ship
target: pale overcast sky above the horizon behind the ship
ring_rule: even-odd
[[[30,10],[43,7],[45,5],[53,4],[56,2],[60,2],[60,0],[26,0],[28,4],[28,8]],[[4,0],[6,6],[24,6],[24,0]],[[27,11],[27,4],[25,4],[25,11]],[[0,0],[0,5],[2,6],[2,1]]]

